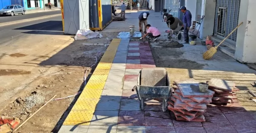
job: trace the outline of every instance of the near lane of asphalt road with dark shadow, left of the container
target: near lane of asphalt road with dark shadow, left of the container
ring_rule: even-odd
[[[31,34],[63,35],[61,16],[0,27],[0,47]],[[7,43],[8,42],[8,43]],[[9,43],[10,42],[10,43]]]

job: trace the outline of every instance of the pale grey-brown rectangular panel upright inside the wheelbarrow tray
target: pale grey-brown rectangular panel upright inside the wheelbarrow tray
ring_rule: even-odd
[[[166,69],[142,69],[141,86],[166,86]]]

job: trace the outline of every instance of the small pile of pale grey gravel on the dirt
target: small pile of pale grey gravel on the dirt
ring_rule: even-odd
[[[37,104],[44,103],[45,98],[39,94],[35,94],[25,98],[25,108],[31,109]]]

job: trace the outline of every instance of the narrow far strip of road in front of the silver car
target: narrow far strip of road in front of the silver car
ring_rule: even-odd
[[[35,18],[35,17],[43,17],[43,16],[48,16],[48,15],[54,15],[54,14],[61,14],[61,10],[46,11],[46,12],[25,14],[25,15],[15,15],[15,16],[0,16],[0,23],[12,22],[12,21],[17,21],[17,20],[22,20],[22,19],[31,19],[31,18]]]

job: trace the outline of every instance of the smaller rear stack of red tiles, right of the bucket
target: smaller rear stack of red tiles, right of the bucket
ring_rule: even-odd
[[[230,103],[238,103],[236,93],[234,93],[235,91],[239,91],[239,89],[235,87],[236,83],[212,78],[208,84],[209,89],[215,92],[211,104],[228,105]]]

